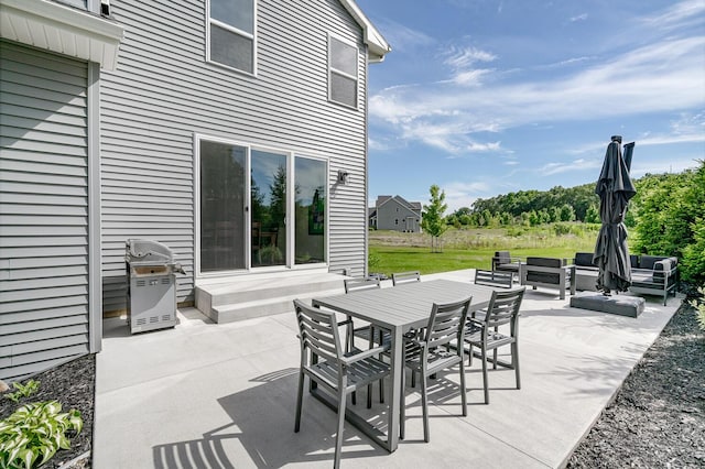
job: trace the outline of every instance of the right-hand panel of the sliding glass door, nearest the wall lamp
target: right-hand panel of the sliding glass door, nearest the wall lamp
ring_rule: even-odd
[[[296,264],[326,261],[326,174],[325,161],[294,160]]]

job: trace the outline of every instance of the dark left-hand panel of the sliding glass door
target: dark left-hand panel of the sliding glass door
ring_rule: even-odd
[[[246,269],[247,149],[200,141],[200,272]]]

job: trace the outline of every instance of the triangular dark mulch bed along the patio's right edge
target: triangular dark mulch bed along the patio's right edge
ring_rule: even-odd
[[[705,467],[705,336],[686,303],[625,380],[567,467]]]

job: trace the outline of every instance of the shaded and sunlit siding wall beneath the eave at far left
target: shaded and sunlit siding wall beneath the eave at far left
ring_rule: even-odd
[[[0,41],[0,379],[89,351],[88,65]]]

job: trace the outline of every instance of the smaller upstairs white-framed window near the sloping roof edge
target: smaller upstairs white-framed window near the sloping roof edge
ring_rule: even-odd
[[[357,108],[357,47],[328,37],[328,99]]]

